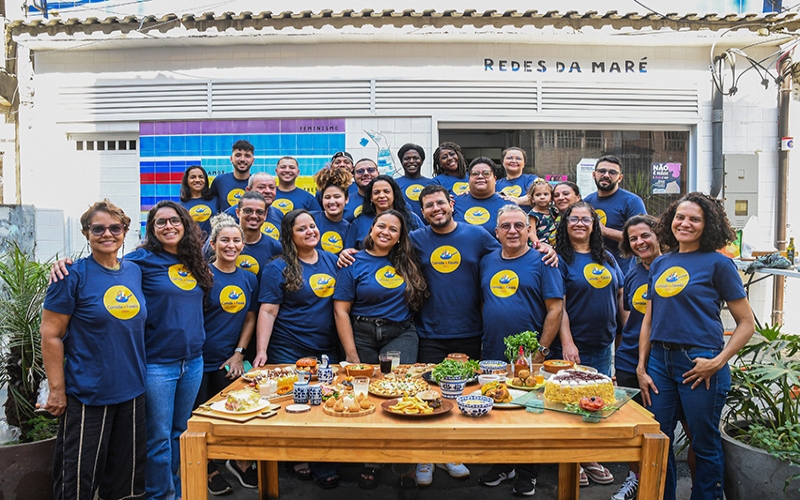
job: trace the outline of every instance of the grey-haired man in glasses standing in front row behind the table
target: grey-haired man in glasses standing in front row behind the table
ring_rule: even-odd
[[[481,259],[483,295],[483,351],[481,359],[505,360],[503,339],[531,330],[539,332],[539,352],[534,362],[541,363],[558,335],[564,297],[564,282],[555,267],[542,262],[539,252],[528,247],[528,216],[517,205],[506,205],[497,214],[495,232],[501,248]],[[533,228],[533,231],[536,229]],[[514,311],[510,314],[510,311]],[[536,492],[539,466],[523,464],[493,465],[478,481],[497,486],[516,477],[513,493],[531,496]]]

